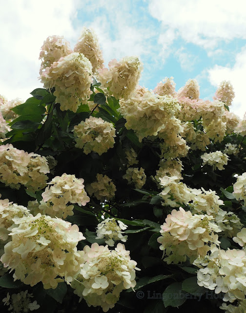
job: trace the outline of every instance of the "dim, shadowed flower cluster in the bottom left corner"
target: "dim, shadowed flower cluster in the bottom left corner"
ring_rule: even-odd
[[[31,298],[33,298],[33,294],[27,292],[26,290],[19,293],[12,293],[11,297],[7,293],[6,297],[2,299],[2,302],[4,305],[9,306],[8,311],[11,311],[11,313],[27,313],[38,310],[40,305],[36,300],[32,302]]]

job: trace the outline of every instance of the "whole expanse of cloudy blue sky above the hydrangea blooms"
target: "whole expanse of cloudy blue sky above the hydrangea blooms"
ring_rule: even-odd
[[[42,3],[42,4],[41,4]],[[137,55],[140,84],[154,89],[174,77],[176,90],[196,78],[200,97],[212,99],[222,80],[236,97],[231,111],[246,111],[246,4],[244,0],[0,0],[0,94],[26,99],[38,81],[39,52],[50,35],[73,47],[82,27],[93,28],[104,64]],[[3,31],[4,28],[4,31]]]

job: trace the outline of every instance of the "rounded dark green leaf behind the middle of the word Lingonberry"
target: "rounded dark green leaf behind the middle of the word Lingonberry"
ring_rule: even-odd
[[[182,283],[172,283],[163,292],[165,307],[179,307],[185,300],[185,291],[182,290]]]

